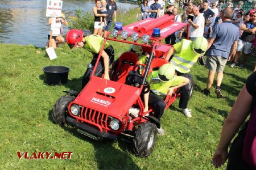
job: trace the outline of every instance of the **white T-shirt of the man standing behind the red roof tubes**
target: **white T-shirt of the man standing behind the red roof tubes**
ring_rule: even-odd
[[[203,37],[204,35],[204,14],[200,13],[194,18],[193,23],[198,25],[198,28],[189,25],[189,37]]]

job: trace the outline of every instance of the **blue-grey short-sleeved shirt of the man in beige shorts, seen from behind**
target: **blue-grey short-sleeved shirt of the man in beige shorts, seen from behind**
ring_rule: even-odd
[[[232,22],[223,22],[213,27],[213,32],[210,35],[214,39],[210,46],[207,56],[229,57],[229,52],[234,41],[239,39],[239,28]]]

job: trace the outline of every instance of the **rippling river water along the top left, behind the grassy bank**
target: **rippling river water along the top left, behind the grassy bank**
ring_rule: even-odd
[[[45,46],[50,29],[46,5],[46,0],[0,0],[0,43]],[[64,0],[62,11],[68,18],[74,16],[78,9],[92,12],[94,5],[94,1]],[[129,10],[138,5],[117,2],[117,7],[118,10]]]

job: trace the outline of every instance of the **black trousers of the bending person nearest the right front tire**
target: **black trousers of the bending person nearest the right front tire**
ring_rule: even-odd
[[[166,103],[164,103],[162,97],[150,91],[148,105],[153,108],[154,116],[160,121],[164,113],[164,108],[166,108]]]

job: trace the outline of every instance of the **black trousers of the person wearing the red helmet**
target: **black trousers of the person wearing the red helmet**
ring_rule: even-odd
[[[114,61],[114,49],[113,46],[109,46],[104,50],[109,56],[109,65],[111,65]],[[84,75],[82,76],[82,88],[86,86],[86,84],[90,80],[90,76],[92,75],[93,68],[96,64],[98,58],[98,54],[93,56],[92,61],[89,63],[87,70],[85,71]],[[96,76],[102,76],[104,74],[104,59],[101,57],[100,61],[98,62],[98,66],[95,71]]]

